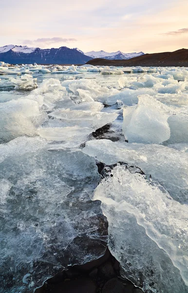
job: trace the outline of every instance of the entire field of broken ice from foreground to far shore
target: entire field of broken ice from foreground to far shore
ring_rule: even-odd
[[[0,62],[0,293],[103,254],[92,196],[122,276],[188,293],[188,68]]]

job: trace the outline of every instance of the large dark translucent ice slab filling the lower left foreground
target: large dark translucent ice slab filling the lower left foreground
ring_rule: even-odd
[[[95,160],[24,140],[27,150],[18,139],[4,145],[0,164],[0,293],[33,292],[68,265],[102,255],[107,240],[99,203],[90,200]]]

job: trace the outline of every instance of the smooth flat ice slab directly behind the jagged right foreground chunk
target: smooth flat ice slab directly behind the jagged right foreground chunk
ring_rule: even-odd
[[[86,143],[83,152],[107,165],[125,162],[140,167],[151,175],[180,203],[188,204],[188,153],[154,144],[113,143],[93,140]]]

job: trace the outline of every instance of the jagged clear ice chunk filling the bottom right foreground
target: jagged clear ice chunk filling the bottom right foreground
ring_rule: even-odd
[[[136,167],[109,169],[93,200],[102,202],[122,274],[149,292],[187,293],[188,205],[172,200]]]

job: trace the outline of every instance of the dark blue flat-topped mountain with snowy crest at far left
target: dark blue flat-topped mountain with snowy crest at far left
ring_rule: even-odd
[[[91,57],[77,49],[60,47],[58,49],[29,48],[27,46],[7,45],[0,47],[0,61],[11,64],[85,64]]]

